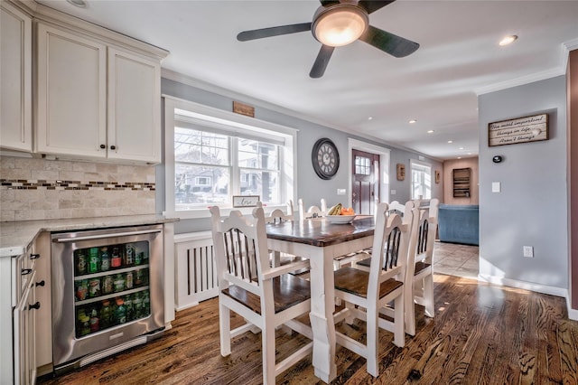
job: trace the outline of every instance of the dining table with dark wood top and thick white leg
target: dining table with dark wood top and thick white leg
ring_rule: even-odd
[[[312,364],[315,376],[326,383],[337,376],[333,259],[370,248],[374,229],[370,215],[356,216],[350,223],[322,217],[266,224],[268,249],[310,261]]]

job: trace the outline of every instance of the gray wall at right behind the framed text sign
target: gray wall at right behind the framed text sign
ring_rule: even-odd
[[[480,275],[568,287],[564,76],[479,98]],[[488,124],[549,114],[546,141],[488,146]],[[504,161],[494,164],[492,156]],[[501,192],[491,192],[500,182]],[[533,246],[535,258],[522,247]]]

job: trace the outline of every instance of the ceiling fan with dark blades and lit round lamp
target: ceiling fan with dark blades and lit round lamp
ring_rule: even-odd
[[[396,58],[403,58],[415,52],[419,44],[369,25],[369,14],[394,1],[320,0],[322,5],[313,14],[312,23],[279,25],[244,31],[238,33],[237,40],[247,42],[264,37],[311,31],[313,37],[322,43],[322,48],[309,73],[312,78],[323,76],[335,47],[347,45],[356,40],[367,42]]]

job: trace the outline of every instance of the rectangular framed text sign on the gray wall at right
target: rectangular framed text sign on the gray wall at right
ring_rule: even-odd
[[[548,140],[548,114],[489,123],[488,145],[504,146]]]

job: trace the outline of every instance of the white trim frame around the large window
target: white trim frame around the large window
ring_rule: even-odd
[[[282,202],[279,208],[285,209],[285,202],[293,200],[295,202],[294,193],[297,191],[297,133],[298,129],[292,127],[285,127],[275,123],[259,120],[254,117],[246,117],[243,115],[228,112],[219,108],[212,108],[201,105],[189,100],[174,98],[172,96],[163,95],[164,102],[164,194],[165,194],[165,211],[163,215],[168,218],[209,218],[210,211],[208,208],[200,208],[189,211],[175,211],[174,210],[174,109],[180,108],[193,113],[195,120],[208,124],[210,127],[215,125],[226,125],[228,127],[236,127],[239,131],[251,130],[256,136],[258,132],[266,133],[267,131],[274,131],[280,136],[284,136],[286,152],[293,155],[293,166],[284,164],[284,173],[281,174]],[[289,154],[287,154],[289,155]],[[283,161],[284,155],[280,154],[280,160]],[[277,208],[268,206],[267,209],[273,210]],[[228,215],[229,211],[239,210],[238,208],[223,208],[221,213]],[[252,208],[240,209],[244,214],[249,214],[253,211]]]

